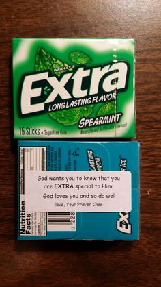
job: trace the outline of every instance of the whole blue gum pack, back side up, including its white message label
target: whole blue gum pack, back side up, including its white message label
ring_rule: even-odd
[[[138,238],[138,142],[18,141],[18,240]]]

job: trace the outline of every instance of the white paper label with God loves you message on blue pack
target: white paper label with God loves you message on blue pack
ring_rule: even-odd
[[[34,212],[130,212],[130,171],[26,171],[25,205]]]

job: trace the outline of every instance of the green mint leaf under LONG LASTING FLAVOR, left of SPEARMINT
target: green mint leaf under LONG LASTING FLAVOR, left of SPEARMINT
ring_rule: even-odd
[[[78,121],[80,121],[84,116],[89,116],[92,111],[93,105],[88,105],[86,107],[50,112],[50,117],[59,123],[62,123],[63,125],[74,125],[75,123],[78,123]]]

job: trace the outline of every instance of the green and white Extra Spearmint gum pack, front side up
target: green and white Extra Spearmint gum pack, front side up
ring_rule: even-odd
[[[14,138],[134,138],[134,40],[13,39]]]

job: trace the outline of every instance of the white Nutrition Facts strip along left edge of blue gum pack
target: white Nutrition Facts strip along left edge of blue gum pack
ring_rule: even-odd
[[[25,212],[25,171],[46,170],[46,147],[20,147],[20,235],[46,236],[46,212]]]

